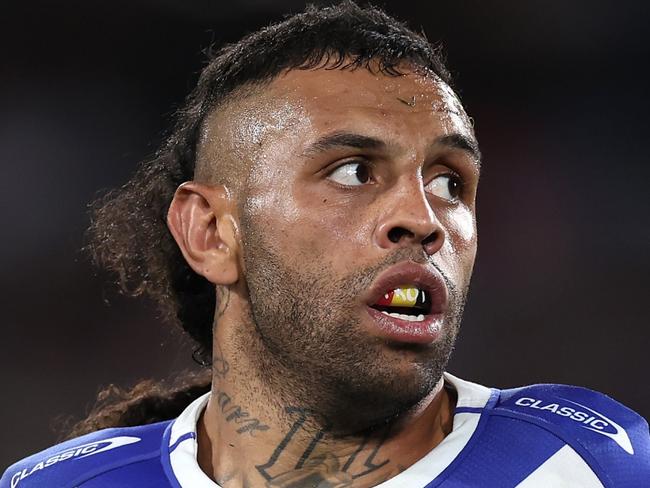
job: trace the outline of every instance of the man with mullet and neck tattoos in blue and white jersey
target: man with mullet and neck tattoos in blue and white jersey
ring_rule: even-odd
[[[647,486],[648,425],[609,397],[445,372],[480,174],[450,86],[424,38],[352,3],[224,48],[91,228],[209,381],[140,385],[0,486]]]

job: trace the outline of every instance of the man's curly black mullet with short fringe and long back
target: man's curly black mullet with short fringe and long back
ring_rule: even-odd
[[[400,67],[433,74],[451,86],[441,48],[382,10],[352,1],[335,6],[309,6],[302,13],[247,35],[210,55],[196,87],[175,114],[172,130],[155,155],[133,177],[90,205],[91,224],[86,249],[95,264],[115,274],[121,292],[146,295],[157,303],[163,318],[179,325],[197,343],[201,362],[210,364],[215,286],[195,273],[184,260],[166,224],[176,188],[195,175],[197,144],[206,117],[232,99],[238,90],[264,86],[291,69],[359,68],[400,76]],[[209,389],[184,384],[196,394]],[[140,385],[140,402],[146,396]],[[167,395],[156,390],[160,398]],[[104,395],[106,396],[106,395]],[[179,400],[188,398],[170,392]],[[86,421],[87,429],[160,420],[154,412],[131,415],[128,392],[113,405],[110,421]],[[130,402],[130,403],[129,403]],[[137,402],[136,402],[137,403]],[[156,409],[160,402],[153,402]],[[168,416],[178,412],[165,407]],[[101,412],[94,412],[95,420]],[[84,429],[78,427],[75,433]]]

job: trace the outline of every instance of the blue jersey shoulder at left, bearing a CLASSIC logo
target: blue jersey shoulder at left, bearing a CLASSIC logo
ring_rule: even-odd
[[[146,471],[148,477],[160,471],[163,476],[160,449],[169,423],[105,429],[57,444],[10,466],[0,478],[0,488],[72,487],[106,473],[116,483],[119,472],[129,478],[138,471]]]

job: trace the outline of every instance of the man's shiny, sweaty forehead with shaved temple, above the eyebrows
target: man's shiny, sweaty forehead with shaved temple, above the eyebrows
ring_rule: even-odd
[[[288,149],[300,154],[336,131],[411,148],[449,134],[474,139],[459,99],[435,75],[296,69],[217,109],[204,125],[199,159],[233,158],[239,168],[243,160],[277,163]]]

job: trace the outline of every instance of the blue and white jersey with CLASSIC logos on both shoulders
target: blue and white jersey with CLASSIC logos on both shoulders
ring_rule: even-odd
[[[458,393],[451,433],[378,488],[650,487],[648,424],[608,396],[445,380]],[[34,454],[7,469],[0,488],[218,488],[196,458],[208,398],[173,421],[106,429]]]

